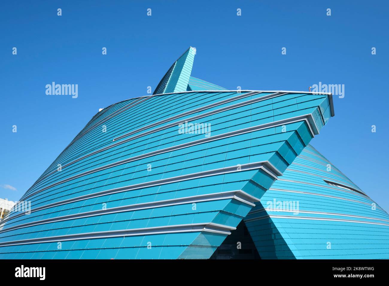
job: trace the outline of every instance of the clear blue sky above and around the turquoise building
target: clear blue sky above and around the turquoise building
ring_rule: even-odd
[[[344,98],[334,96],[335,117],[311,144],[389,211],[388,2],[0,5],[0,198],[18,200],[99,108],[147,95],[147,86],[154,89],[193,46],[192,75],[228,89],[308,91],[319,82],[344,84]],[[78,84],[78,97],[46,95],[53,81]]]

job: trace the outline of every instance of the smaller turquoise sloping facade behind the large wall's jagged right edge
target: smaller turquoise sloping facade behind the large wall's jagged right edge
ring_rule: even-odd
[[[389,257],[388,214],[311,145],[244,221],[263,259]]]

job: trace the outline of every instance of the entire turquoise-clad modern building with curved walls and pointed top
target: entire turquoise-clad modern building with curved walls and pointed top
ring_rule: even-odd
[[[227,90],[195,53],[89,121],[0,222],[0,258],[389,258],[389,215],[309,144],[331,94]]]

